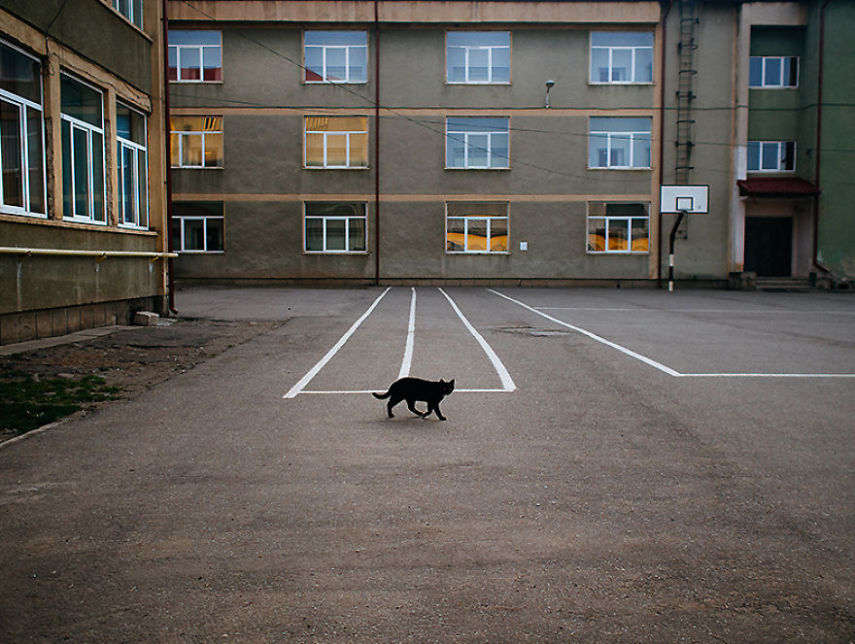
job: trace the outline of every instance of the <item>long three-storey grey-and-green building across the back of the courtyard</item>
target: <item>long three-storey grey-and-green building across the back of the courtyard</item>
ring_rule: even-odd
[[[183,280],[855,274],[853,5],[168,2]]]

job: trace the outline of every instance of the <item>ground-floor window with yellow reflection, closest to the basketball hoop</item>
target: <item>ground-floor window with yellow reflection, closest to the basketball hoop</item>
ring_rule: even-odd
[[[646,203],[589,203],[588,252],[648,252],[649,210]]]

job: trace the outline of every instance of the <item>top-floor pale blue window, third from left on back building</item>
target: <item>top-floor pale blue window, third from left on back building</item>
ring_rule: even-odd
[[[449,83],[510,83],[510,31],[449,31],[445,38]]]

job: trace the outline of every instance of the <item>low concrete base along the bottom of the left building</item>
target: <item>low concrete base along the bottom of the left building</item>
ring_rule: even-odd
[[[29,342],[102,326],[126,325],[141,310],[168,311],[166,296],[94,302],[0,314],[0,345]]]

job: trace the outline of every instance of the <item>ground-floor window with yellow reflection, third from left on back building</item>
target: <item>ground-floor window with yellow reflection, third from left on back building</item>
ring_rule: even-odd
[[[507,203],[448,203],[445,207],[448,253],[507,253]]]

